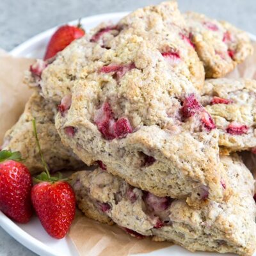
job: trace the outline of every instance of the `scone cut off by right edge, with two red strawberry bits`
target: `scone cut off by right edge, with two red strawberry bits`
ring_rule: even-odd
[[[209,79],[201,102],[220,131],[219,145],[228,151],[256,147],[256,81]]]

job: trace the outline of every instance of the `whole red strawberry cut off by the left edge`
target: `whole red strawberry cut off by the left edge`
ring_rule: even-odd
[[[27,223],[32,215],[32,178],[20,161],[19,152],[0,152],[0,210],[19,223]]]

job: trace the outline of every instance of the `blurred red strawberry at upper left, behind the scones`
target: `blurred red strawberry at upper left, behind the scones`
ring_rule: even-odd
[[[64,25],[56,30],[52,35],[47,50],[45,52],[44,60],[48,60],[56,55],[57,52],[62,51],[74,40],[81,38],[84,35],[84,30],[80,26]]]

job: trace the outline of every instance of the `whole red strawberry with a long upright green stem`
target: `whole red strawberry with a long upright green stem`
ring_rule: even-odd
[[[35,179],[39,183],[32,188],[32,204],[47,233],[54,238],[61,239],[65,237],[75,218],[76,196],[70,184],[65,179],[61,179],[61,173],[58,177],[51,177],[47,163],[42,156],[35,119],[33,129],[45,172]]]

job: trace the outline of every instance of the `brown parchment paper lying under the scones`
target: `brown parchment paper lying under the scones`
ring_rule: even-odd
[[[255,53],[227,77],[256,79],[256,44]],[[12,58],[0,51],[0,143],[4,132],[19,118],[28,100],[30,90],[22,84],[24,70],[32,60]],[[81,256],[126,256],[147,253],[170,246],[171,243],[152,242],[149,238],[138,240],[131,237],[116,225],[102,225],[90,220],[77,211],[69,236]]]

